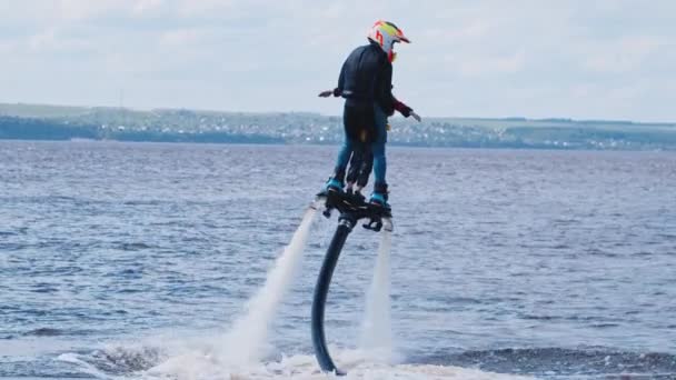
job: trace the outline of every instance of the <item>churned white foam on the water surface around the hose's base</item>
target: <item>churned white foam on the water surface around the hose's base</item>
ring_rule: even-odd
[[[163,339],[162,339],[163,340]],[[148,370],[135,372],[121,371],[122,373],[110,374],[93,366],[91,358],[80,358],[80,354],[64,353],[58,360],[69,362],[97,379],[107,380],[272,380],[272,379],[398,379],[398,380],[440,380],[440,379],[467,379],[467,380],[518,380],[530,379],[527,377],[485,372],[477,369],[466,369],[450,366],[430,364],[388,364],[380,361],[371,361],[366,358],[361,350],[345,350],[330,347],[334,359],[339,368],[347,371],[347,376],[337,377],[332,373],[322,373],[319,370],[315,356],[295,354],[282,356],[279,361],[259,361],[246,366],[230,366],[215,358],[210,344],[201,346],[193,341],[191,347],[182,343],[175,344],[171,340],[165,340],[161,348],[155,346],[131,344],[128,347],[115,347],[105,349],[130,350],[131,356],[138,352],[167,351],[169,359]],[[109,366],[106,366],[109,367]]]

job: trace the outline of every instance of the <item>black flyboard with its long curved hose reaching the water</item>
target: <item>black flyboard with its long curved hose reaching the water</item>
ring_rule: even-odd
[[[334,276],[334,269],[338,263],[340,251],[345,246],[347,237],[350,234],[355,226],[361,219],[368,221],[364,228],[379,232],[380,230],[392,230],[392,216],[389,208],[371,204],[365,201],[364,197],[349,194],[346,192],[327,191],[317,194],[317,201],[314,204],[324,202],[326,209],[324,216],[330,218],[334,210],[339,212],[338,227],[334,233],[334,238],[327,249],[324,258],[324,263],[317,278],[315,287],[315,297],[312,299],[312,346],[315,347],[315,356],[319,362],[319,367],[325,372],[335,372],[338,376],[346,374],[339,370],[326,346],[326,336],[324,333],[324,310],[326,298],[329,292],[329,284]]]

